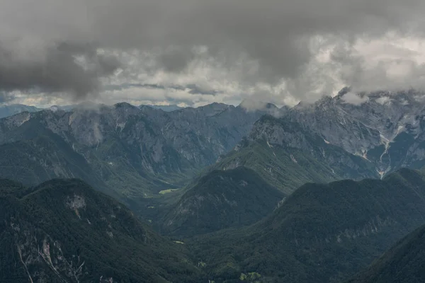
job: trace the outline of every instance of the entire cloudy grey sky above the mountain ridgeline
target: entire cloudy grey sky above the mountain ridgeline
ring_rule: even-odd
[[[0,103],[425,90],[421,0],[2,0]]]

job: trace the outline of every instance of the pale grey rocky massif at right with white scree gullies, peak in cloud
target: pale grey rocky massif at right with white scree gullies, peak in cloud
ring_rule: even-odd
[[[353,96],[363,103],[350,103]],[[384,176],[398,168],[425,165],[424,98],[414,91],[365,96],[346,89],[313,105],[297,105],[285,121],[297,122],[327,143],[361,156]]]

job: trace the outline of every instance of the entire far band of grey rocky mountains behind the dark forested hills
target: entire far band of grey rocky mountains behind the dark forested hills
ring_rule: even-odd
[[[353,104],[353,97],[362,103]],[[128,103],[21,112],[0,120],[1,174],[28,185],[79,177],[132,199],[181,187],[216,161],[220,170],[254,169],[285,193],[306,181],[382,178],[425,165],[423,98],[412,91],[360,97],[344,90],[291,109],[244,101],[238,107],[212,103],[171,112]],[[262,117],[267,114],[274,116]],[[259,143],[268,161],[259,162],[262,168],[246,165],[241,156],[246,144]],[[285,154],[278,156],[278,149]],[[280,178],[283,171],[288,174]]]

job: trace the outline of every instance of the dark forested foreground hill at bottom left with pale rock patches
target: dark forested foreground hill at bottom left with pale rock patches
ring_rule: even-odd
[[[0,180],[1,282],[189,282],[184,247],[80,180]]]

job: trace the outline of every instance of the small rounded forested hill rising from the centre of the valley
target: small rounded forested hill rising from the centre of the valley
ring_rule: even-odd
[[[273,212],[283,197],[251,169],[212,171],[166,213],[161,231],[192,236],[253,224]]]

